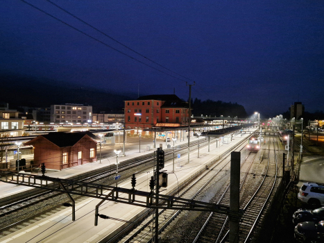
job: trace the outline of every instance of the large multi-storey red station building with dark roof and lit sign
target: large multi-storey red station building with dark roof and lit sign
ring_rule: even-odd
[[[156,94],[125,101],[126,128],[187,126],[189,104],[176,94]]]

